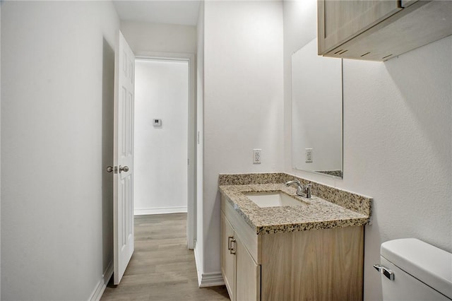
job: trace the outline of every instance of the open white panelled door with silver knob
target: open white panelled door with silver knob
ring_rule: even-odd
[[[133,99],[135,56],[119,32],[114,64],[114,284],[133,254]]]

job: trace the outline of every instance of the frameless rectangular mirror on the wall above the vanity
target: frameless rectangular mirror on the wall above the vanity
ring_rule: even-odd
[[[292,167],[343,177],[342,59],[317,55],[317,39],[292,54]]]

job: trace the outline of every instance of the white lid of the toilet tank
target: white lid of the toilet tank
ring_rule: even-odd
[[[451,253],[415,238],[404,238],[383,242],[380,254],[398,268],[452,299]]]

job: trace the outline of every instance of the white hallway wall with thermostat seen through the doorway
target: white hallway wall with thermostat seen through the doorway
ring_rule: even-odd
[[[135,214],[186,212],[188,102],[188,61],[136,60]]]

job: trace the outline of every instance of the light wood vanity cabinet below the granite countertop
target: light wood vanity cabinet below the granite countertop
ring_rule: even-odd
[[[362,300],[363,226],[256,235],[221,199],[221,269],[232,301]]]

